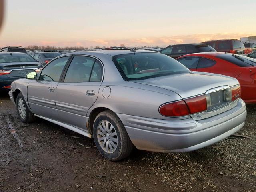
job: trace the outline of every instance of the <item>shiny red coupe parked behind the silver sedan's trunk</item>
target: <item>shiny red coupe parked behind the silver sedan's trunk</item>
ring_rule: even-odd
[[[241,85],[244,102],[256,103],[256,59],[231,53],[206,52],[180,56],[176,60],[192,71],[236,78]]]

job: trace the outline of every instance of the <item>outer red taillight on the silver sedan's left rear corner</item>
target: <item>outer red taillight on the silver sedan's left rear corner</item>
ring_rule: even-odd
[[[178,117],[178,116],[189,115],[188,107],[183,100],[163,104],[162,106],[160,106],[159,112],[161,115],[168,116],[168,117]]]

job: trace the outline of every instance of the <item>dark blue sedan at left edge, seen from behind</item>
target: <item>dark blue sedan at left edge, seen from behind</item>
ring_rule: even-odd
[[[29,72],[39,72],[42,67],[26,53],[0,52],[0,90],[9,90],[14,80],[24,78]]]

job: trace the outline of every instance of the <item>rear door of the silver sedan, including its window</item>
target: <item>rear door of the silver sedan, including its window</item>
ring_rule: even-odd
[[[56,107],[61,122],[86,129],[86,114],[97,100],[102,76],[103,65],[96,58],[72,58],[56,90]]]

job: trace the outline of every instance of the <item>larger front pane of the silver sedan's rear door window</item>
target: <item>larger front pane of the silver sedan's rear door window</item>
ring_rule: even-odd
[[[68,67],[64,82],[88,82],[94,62],[94,58],[75,56]]]

